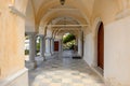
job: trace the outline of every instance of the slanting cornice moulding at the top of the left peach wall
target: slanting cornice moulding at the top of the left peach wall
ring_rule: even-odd
[[[11,13],[18,15],[22,18],[26,18],[25,14],[22,13],[21,11],[18,11],[13,4],[9,4],[9,9],[10,9]]]

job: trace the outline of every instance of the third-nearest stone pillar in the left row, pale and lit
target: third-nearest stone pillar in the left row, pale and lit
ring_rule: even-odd
[[[51,38],[46,38],[46,56],[51,56]]]

